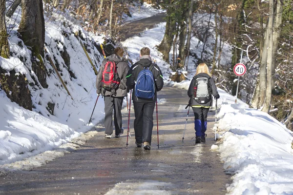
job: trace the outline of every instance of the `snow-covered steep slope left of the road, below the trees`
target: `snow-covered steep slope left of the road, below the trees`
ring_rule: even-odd
[[[104,116],[104,102],[100,99],[91,125],[86,126],[97,98],[96,76],[79,39],[83,39],[97,69],[103,57],[82,28],[69,21],[67,22],[70,23],[70,27],[57,25],[58,22],[60,21],[46,22],[45,44],[48,55],[57,66],[72,99],[46,59],[44,61],[48,73],[48,88],[44,89],[38,85],[31,67],[31,51],[18,38],[18,25],[15,26],[9,38],[12,56],[10,59],[0,58],[0,65],[8,72],[14,69],[17,74],[24,74],[28,82],[33,83],[28,85],[32,95],[33,111],[25,110],[11,102],[3,95],[4,92],[0,91],[0,165],[60,146],[88,131]],[[81,34],[79,38],[74,36],[78,31]],[[70,65],[61,57],[64,51],[70,57]],[[74,76],[71,77],[69,72]],[[48,112],[48,103],[55,104],[54,115]]]

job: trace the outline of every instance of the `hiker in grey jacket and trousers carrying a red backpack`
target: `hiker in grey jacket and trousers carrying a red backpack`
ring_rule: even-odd
[[[111,138],[113,133],[113,109],[115,137],[120,137],[122,128],[122,103],[127,96],[126,75],[129,70],[127,62],[122,58],[124,51],[121,47],[114,49],[114,54],[108,56],[101,64],[96,88],[98,96],[104,96],[105,103],[105,138]]]

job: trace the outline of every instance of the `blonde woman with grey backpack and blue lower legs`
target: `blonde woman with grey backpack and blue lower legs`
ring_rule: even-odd
[[[195,143],[206,142],[207,117],[212,105],[212,98],[218,99],[215,81],[210,77],[209,68],[206,63],[197,66],[196,74],[192,78],[188,88],[189,103],[194,112]]]

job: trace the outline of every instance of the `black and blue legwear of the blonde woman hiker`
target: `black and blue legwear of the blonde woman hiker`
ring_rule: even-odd
[[[194,113],[194,129],[195,129],[195,136],[197,137],[205,137],[207,126],[208,126],[208,112],[209,108],[195,108],[192,107]]]

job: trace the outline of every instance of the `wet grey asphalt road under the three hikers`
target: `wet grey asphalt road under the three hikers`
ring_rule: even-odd
[[[125,134],[104,138],[103,128],[75,152],[65,154],[32,171],[10,173],[0,177],[0,194],[5,195],[98,195],[98,194],[196,194],[221,195],[230,176],[225,175],[219,156],[209,149],[213,140],[211,128],[214,113],[209,112],[206,143],[196,144],[193,113],[185,140],[188,101],[186,90],[165,87],[158,93],[165,99],[158,104],[159,140],[157,148],[156,112],[151,150],[134,143],[133,108],[130,119],[131,138],[126,148],[127,111],[123,110]],[[101,125],[99,125],[101,126]],[[122,182],[115,186],[115,184]],[[2,192],[2,193],[1,193]],[[118,193],[119,192],[119,193]]]

